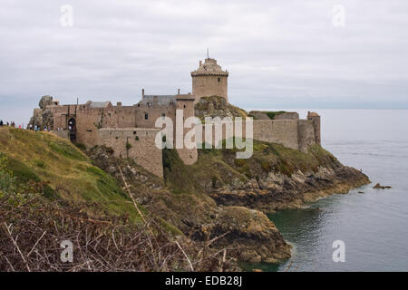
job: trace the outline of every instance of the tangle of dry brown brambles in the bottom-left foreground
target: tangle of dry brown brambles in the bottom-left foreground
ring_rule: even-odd
[[[0,198],[0,272],[231,269],[223,251],[186,237],[175,239],[159,219],[134,224],[127,217],[90,217],[84,207],[44,203],[40,196],[15,207]],[[71,263],[60,259],[63,240],[73,243]]]

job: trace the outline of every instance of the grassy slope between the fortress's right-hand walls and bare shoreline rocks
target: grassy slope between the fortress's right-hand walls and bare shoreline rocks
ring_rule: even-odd
[[[200,183],[228,184],[233,179],[266,177],[268,172],[280,172],[290,176],[296,170],[316,171],[319,166],[332,168],[340,162],[318,145],[309,148],[307,154],[279,144],[254,140],[254,153],[248,160],[237,160],[237,150],[199,150],[199,160],[190,166],[178,161],[174,150],[165,150],[164,174],[167,185],[176,192],[202,191]],[[171,167],[167,164],[170,164]]]

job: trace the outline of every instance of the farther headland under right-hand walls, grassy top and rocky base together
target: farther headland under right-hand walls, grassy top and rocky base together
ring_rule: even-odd
[[[189,176],[218,205],[266,213],[302,208],[306,202],[370,182],[364,173],[344,166],[320,146],[308,151],[259,141],[254,141],[254,154],[248,160],[235,159],[234,150],[199,151]]]

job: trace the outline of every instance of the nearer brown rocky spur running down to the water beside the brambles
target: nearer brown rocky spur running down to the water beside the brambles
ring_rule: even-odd
[[[114,158],[106,147],[94,147],[87,154],[96,166],[122,184],[120,167],[137,202],[178,227],[186,237],[226,248],[228,256],[241,261],[271,263],[290,256],[290,245],[263,212],[218,206],[209,195],[193,190],[172,192],[163,179],[131,160]]]

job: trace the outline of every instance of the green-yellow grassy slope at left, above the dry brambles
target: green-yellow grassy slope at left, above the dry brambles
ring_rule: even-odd
[[[92,203],[112,214],[129,214],[139,220],[130,198],[114,179],[92,165],[81,150],[68,140],[46,132],[0,129],[0,152],[8,157],[17,179],[34,179],[48,184],[46,196]]]

